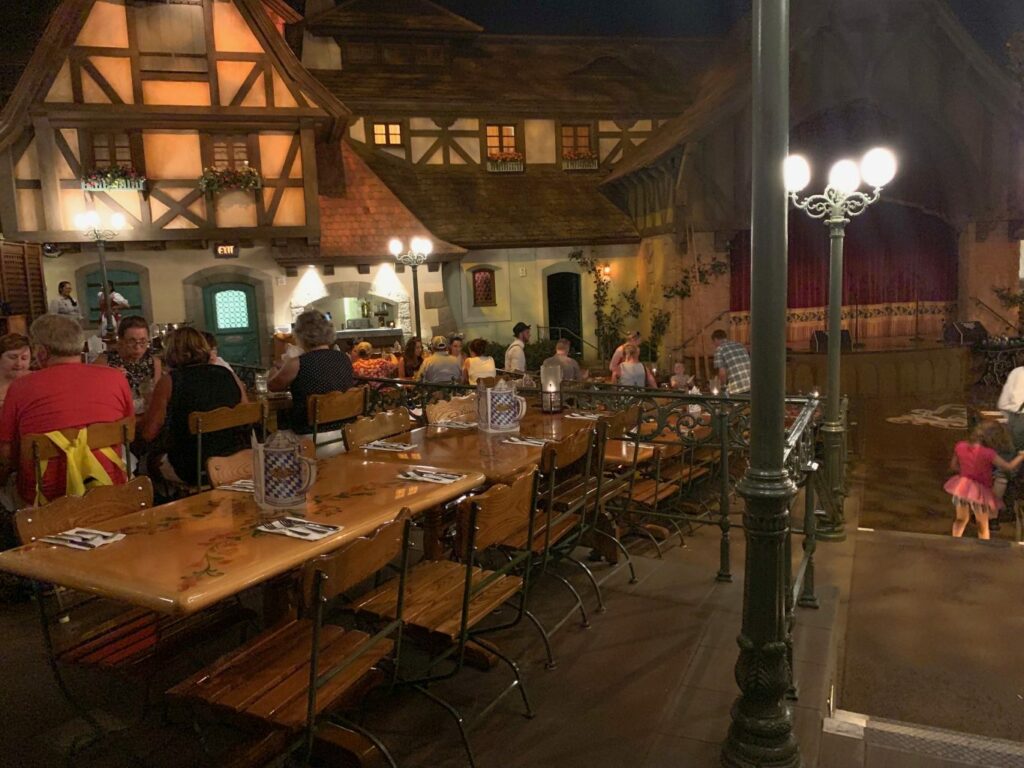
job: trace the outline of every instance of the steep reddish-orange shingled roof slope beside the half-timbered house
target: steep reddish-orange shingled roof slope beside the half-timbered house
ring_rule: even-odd
[[[341,152],[345,195],[339,198],[321,196],[321,252],[314,261],[371,264],[390,260],[387,246],[391,238],[409,242],[425,234],[433,236],[431,261],[443,261],[445,256],[465,253],[459,246],[440,240],[437,232],[402,205],[347,142],[342,142]],[[306,256],[295,260],[295,263],[308,262]]]

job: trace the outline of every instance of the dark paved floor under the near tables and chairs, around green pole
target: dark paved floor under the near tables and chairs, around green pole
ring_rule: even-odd
[[[517,695],[506,697],[474,730],[478,764],[485,766],[564,766],[565,768],[667,768],[714,766],[729,725],[736,696],[732,668],[739,629],[743,544],[733,536],[735,581],[718,584],[719,534],[698,530],[685,549],[678,543],[657,559],[652,552],[635,558],[639,582],[628,583],[625,569],[605,585],[607,611],[592,615],[592,627],[573,621],[554,638],[558,667],[544,669],[537,636],[527,627],[499,636],[501,645],[520,662],[538,712],[521,716]],[[800,700],[794,713],[796,731],[807,765],[814,765],[821,710],[831,678],[835,644],[831,627],[838,590],[822,584],[820,610],[801,610],[795,634],[795,666]],[[577,581],[573,579],[573,581]],[[588,605],[593,594],[579,584]],[[557,584],[542,585],[538,608],[549,616],[568,606]],[[0,607],[0,764],[17,768],[59,765],[81,721],[59,698],[38,635],[32,605]],[[208,649],[206,656],[215,655]],[[168,671],[170,679],[182,669]],[[506,669],[489,673],[466,670],[434,690],[472,715],[477,697],[500,688]],[[127,723],[139,712],[138,688],[109,675],[76,675],[75,689],[104,721]],[[127,735],[76,757],[74,765],[127,766],[127,752],[143,756],[152,766],[216,765],[204,762],[187,716],[172,710],[178,725],[167,725],[153,712]],[[394,750],[399,765],[449,768],[466,765],[455,725],[425,698],[403,693],[370,708],[365,724]],[[210,729],[216,744],[239,735]]]

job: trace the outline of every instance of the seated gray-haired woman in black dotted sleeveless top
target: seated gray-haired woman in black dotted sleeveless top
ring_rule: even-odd
[[[267,380],[271,392],[292,393],[292,429],[299,434],[313,431],[307,416],[310,395],[344,392],[355,383],[352,361],[348,355],[331,345],[335,341],[334,325],[323,312],[308,309],[295,321],[295,340],[302,348],[298,357],[289,357]],[[340,429],[340,425],[323,425],[322,430]]]

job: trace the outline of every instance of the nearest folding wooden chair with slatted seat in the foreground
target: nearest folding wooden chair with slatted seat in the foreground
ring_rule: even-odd
[[[332,713],[354,703],[365,692],[368,678],[385,659],[392,659],[392,684],[395,681],[407,596],[409,517],[409,510],[403,509],[376,532],[306,563],[300,617],[222,656],[175,685],[168,695],[286,731],[296,737],[291,751],[301,750],[303,765],[308,763],[316,731],[327,718],[366,736],[394,766],[376,736]],[[397,578],[385,585],[394,595],[389,621],[375,627],[374,634],[325,623],[326,603],[387,572],[389,564],[399,557]]]

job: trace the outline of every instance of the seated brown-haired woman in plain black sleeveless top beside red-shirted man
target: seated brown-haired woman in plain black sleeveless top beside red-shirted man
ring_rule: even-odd
[[[188,415],[197,411],[233,408],[248,402],[242,382],[222,366],[210,362],[210,345],[194,328],[179,328],[164,341],[170,375],[157,382],[153,402],[142,420],[142,438],[152,442],[167,427],[167,454],[159,457],[158,472],[171,482],[195,485],[198,445],[188,431]],[[224,430],[203,435],[203,458],[230,456],[249,446],[244,431]]]

